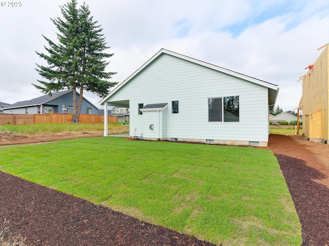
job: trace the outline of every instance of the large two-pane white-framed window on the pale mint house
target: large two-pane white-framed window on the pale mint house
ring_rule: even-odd
[[[208,121],[239,122],[239,96],[208,98]]]

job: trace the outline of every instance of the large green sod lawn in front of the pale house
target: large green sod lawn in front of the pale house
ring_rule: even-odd
[[[264,149],[84,138],[3,146],[0,170],[216,244],[301,244]]]

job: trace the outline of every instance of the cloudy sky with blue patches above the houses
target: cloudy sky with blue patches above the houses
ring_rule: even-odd
[[[1,1],[0,1],[1,2]],[[121,83],[161,48],[279,85],[276,107],[298,107],[297,82],[329,42],[327,0],[85,0],[103,29],[110,81]],[[11,6],[11,3],[19,3]],[[0,101],[13,104],[42,96],[35,51],[42,35],[58,43],[50,18],[63,18],[67,0],[1,2]],[[79,6],[83,1],[78,0]],[[201,86],[201,85],[200,85]],[[84,96],[97,107],[101,98]]]

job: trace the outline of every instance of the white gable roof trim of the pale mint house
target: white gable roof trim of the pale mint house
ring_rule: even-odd
[[[188,56],[185,56],[185,55],[181,55],[181,54],[178,54],[178,53],[175,53],[175,52],[172,52],[172,51],[169,51],[169,50],[166,50],[166,49],[161,49],[160,51],[158,51],[154,56],[152,56],[146,63],[144,63],[139,69],[137,69],[132,75],[130,75],[128,78],[126,78],[121,84],[119,84],[113,91],[111,91],[106,97],[104,97],[100,102],[99,102],[99,105],[104,105],[105,101],[108,99],[108,97],[110,97],[111,95],[113,95],[116,91],[118,91],[123,85],[125,85],[127,82],[129,82],[136,74],[138,74],[141,70],[143,70],[145,67],[147,67],[150,63],[152,63],[152,61],[154,59],[156,59],[159,55],[161,55],[162,53],[164,54],[169,54],[169,55],[172,55],[172,56],[175,56],[175,57],[178,57],[178,58],[181,58],[181,59],[184,59],[184,60],[188,60],[188,61],[191,61],[192,63],[195,63],[195,64],[198,64],[198,65],[202,65],[202,66],[205,66],[205,67],[208,67],[208,68],[211,68],[211,69],[214,69],[216,71],[220,71],[220,72],[223,72],[223,73],[226,73],[226,74],[229,74],[229,75],[232,75],[234,77],[238,77],[238,78],[241,78],[241,79],[244,79],[244,80],[247,80],[247,81],[250,81],[254,84],[258,84],[258,85],[261,85],[261,86],[264,86],[264,87],[267,87],[269,89],[272,89],[272,90],[275,90],[275,91],[279,91],[279,88],[280,86],[277,86],[277,85],[273,85],[273,84],[270,84],[270,83],[267,83],[263,80],[259,80],[257,78],[253,78],[253,77],[249,77],[247,75],[244,75],[244,74],[241,74],[241,73],[237,73],[237,72],[234,72],[234,71],[231,71],[231,70],[228,70],[228,69],[225,69],[225,68],[222,68],[222,67],[218,67],[218,66],[215,66],[215,65],[212,65],[212,64],[209,64],[209,63],[205,63],[204,61],[201,61],[201,60],[197,60],[197,59],[194,59],[194,58],[191,58],[191,57],[188,57]],[[276,94],[276,98],[274,101],[276,101],[277,99],[277,96],[278,96],[278,93]],[[271,105],[270,105],[271,106]]]

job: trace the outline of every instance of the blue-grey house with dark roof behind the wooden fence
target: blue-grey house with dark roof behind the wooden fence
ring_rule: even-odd
[[[80,94],[77,92],[77,100]],[[73,113],[73,91],[54,92],[26,101],[19,101],[3,109],[7,114],[70,114]],[[98,108],[86,98],[82,99],[82,114],[97,114]]]

